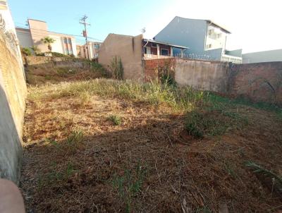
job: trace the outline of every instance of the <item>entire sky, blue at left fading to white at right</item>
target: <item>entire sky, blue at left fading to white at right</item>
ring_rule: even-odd
[[[175,17],[214,20],[232,32],[227,49],[243,53],[282,49],[282,0],[8,0],[15,24],[27,18],[44,20],[48,29],[81,35],[79,24],[87,15],[88,35],[104,40],[109,33],[152,39]],[[83,42],[78,37],[78,43]]]

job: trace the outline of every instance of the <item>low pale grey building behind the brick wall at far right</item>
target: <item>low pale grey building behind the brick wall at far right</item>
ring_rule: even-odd
[[[243,63],[261,63],[282,61],[282,49],[257,51],[243,54]]]

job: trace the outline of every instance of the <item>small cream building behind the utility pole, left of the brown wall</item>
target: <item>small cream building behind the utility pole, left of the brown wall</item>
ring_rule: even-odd
[[[77,45],[76,48],[78,49],[78,56],[83,59],[97,59],[101,44],[102,42],[88,42],[88,45]],[[88,48],[90,49],[89,54],[87,51]]]

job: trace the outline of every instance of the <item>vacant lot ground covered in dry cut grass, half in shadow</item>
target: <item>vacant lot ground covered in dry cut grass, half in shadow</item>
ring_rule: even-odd
[[[277,212],[281,109],[157,83],[29,88],[27,212]],[[257,172],[254,172],[257,171]]]

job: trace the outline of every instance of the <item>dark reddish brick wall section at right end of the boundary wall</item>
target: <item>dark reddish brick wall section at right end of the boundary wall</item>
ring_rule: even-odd
[[[282,105],[282,62],[233,64],[229,93]]]

